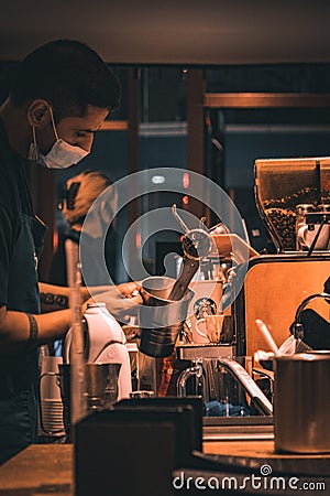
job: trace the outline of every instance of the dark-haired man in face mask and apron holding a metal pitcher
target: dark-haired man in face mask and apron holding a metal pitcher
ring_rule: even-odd
[[[37,281],[45,226],[33,213],[29,160],[47,169],[77,163],[119,96],[117,78],[96,52],[58,40],[25,57],[0,107],[0,463],[36,442],[37,347],[70,325],[68,289]],[[135,283],[119,288],[106,299],[117,317],[140,302],[124,298]],[[58,311],[40,314],[40,293],[53,294],[45,304]],[[86,288],[81,295],[84,311]]]

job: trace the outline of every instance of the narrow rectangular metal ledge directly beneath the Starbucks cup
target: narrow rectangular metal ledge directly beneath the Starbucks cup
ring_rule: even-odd
[[[193,360],[196,358],[232,358],[235,356],[235,347],[232,344],[186,344],[176,347],[179,360]]]

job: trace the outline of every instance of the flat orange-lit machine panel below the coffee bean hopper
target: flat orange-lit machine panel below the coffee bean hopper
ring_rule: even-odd
[[[290,335],[290,326],[300,302],[309,294],[322,292],[330,273],[330,255],[304,252],[264,255],[249,263],[244,285],[235,302],[237,326],[241,330],[239,354],[254,356],[270,352],[255,321],[262,320],[279,347]],[[329,321],[330,309],[324,301],[311,302],[314,309]]]

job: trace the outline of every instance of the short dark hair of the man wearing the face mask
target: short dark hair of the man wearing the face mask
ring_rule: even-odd
[[[19,64],[10,98],[14,105],[44,98],[58,120],[73,115],[82,117],[87,105],[117,108],[120,84],[89,46],[56,40],[34,50]]]

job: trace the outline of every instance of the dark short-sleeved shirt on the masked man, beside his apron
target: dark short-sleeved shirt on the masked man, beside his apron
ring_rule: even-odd
[[[21,214],[33,216],[28,168],[29,161],[11,149],[0,119],[0,306],[8,303],[9,267]]]

